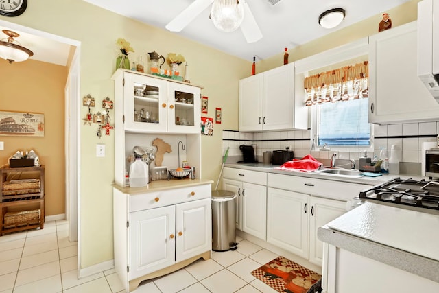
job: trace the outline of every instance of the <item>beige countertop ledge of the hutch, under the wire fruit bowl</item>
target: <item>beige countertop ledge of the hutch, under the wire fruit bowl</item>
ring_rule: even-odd
[[[119,189],[124,194],[147,194],[150,192],[163,191],[169,189],[176,189],[182,187],[191,187],[204,184],[212,184],[213,180],[207,179],[171,179],[171,180],[157,180],[148,183],[145,187],[120,187],[113,184],[112,186]]]

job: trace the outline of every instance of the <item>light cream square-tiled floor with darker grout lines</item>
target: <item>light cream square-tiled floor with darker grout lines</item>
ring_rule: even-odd
[[[0,293],[125,292],[114,269],[78,280],[78,244],[67,235],[68,222],[58,220],[0,237]],[[276,293],[250,272],[278,255],[241,237],[237,242],[235,251],[144,281],[134,293]]]

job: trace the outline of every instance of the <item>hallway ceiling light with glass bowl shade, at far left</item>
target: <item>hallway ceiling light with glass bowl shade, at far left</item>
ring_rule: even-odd
[[[3,59],[6,59],[9,61],[9,63],[12,62],[21,62],[27,60],[30,56],[34,55],[34,52],[31,50],[21,46],[17,45],[19,42],[14,40],[14,38],[20,36],[16,32],[12,32],[10,30],[3,30],[3,33],[5,33],[8,38],[7,41],[6,38],[3,40],[0,40],[0,57]]]

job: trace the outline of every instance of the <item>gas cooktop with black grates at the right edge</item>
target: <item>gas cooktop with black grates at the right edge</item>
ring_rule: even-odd
[[[439,215],[439,183],[395,178],[361,191],[353,206],[366,201]]]

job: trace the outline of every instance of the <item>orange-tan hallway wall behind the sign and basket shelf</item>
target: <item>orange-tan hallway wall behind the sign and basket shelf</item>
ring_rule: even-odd
[[[45,62],[14,62],[0,59],[0,110],[43,113],[44,137],[1,136],[5,150],[0,165],[17,150],[34,150],[45,165],[45,214],[64,213],[64,84],[67,68]]]

